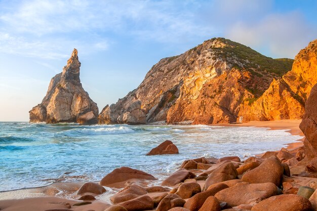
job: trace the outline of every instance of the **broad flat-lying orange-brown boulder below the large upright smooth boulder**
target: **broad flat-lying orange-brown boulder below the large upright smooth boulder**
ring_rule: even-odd
[[[215,197],[219,201],[227,202],[230,206],[238,206],[240,204],[258,203],[277,193],[278,189],[273,183],[250,184],[242,182],[219,191]]]

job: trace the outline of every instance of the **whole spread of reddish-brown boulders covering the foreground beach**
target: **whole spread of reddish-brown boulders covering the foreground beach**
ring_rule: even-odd
[[[107,186],[123,189],[110,197],[113,205],[105,211],[317,210],[317,179],[298,176],[298,165],[293,165],[294,159],[304,163],[302,150],[283,148],[244,161],[235,156],[185,160],[161,186],[138,182],[155,181],[150,174],[120,167],[99,184],[85,183],[77,191],[83,202],[73,206],[91,203]],[[301,174],[317,169],[312,162],[305,163]]]

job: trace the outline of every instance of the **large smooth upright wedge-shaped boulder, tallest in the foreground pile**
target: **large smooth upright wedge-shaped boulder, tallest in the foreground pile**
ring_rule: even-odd
[[[272,156],[263,161],[258,167],[246,172],[242,181],[249,183],[274,183],[280,186],[284,168],[279,158]]]

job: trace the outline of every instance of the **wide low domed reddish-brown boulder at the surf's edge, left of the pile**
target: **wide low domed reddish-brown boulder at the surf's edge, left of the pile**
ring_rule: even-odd
[[[120,167],[113,170],[100,181],[100,185],[107,186],[113,183],[124,182],[130,179],[156,180],[152,175],[129,167]]]

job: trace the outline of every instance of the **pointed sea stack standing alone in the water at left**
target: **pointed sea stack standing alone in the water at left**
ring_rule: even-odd
[[[74,49],[63,72],[51,79],[42,103],[29,111],[30,122],[98,122],[98,107],[82,87],[80,66],[77,50]]]

